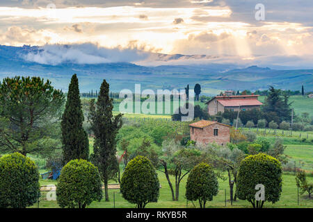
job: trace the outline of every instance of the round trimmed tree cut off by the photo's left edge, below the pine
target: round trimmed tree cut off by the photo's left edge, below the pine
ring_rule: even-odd
[[[20,153],[0,159],[0,208],[25,208],[40,197],[38,168]]]

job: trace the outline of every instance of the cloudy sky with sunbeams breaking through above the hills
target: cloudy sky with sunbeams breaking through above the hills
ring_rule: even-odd
[[[85,54],[93,45],[93,53],[118,50],[121,58],[136,51],[133,62],[150,65],[157,61],[147,53],[313,67],[312,11],[311,0],[1,0],[0,44],[70,44]]]

